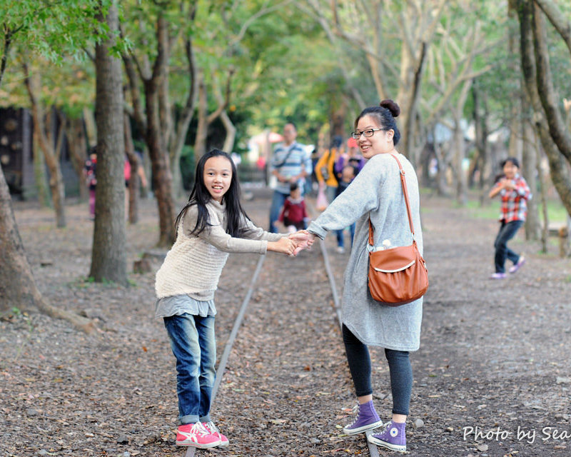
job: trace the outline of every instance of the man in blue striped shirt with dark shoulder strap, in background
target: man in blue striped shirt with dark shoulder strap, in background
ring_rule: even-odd
[[[285,203],[285,199],[290,194],[290,184],[297,183],[303,194],[303,184],[305,176],[311,173],[311,159],[305,152],[302,144],[295,139],[298,131],[293,123],[285,124],[283,127],[283,143],[276,146],[273,151],[271,161],[271,174],[276,177],[277,183],[273,189],[272,203],[270,207],[270,229],[271,233],[276,233],[276,221]]]

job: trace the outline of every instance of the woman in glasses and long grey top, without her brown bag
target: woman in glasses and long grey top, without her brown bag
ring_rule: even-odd
[[[415,239],[423,252],[420,227],[418,180],[410,161],[395,149],[400,139],[395,117],[400,108],[392,100],[364,109],[355,120],[353,138],[368,159],[350,186],[308,226],[308,243],[325,238],[328,231],[340,230],[356,221],[355,240],[345,270],[343,286],[343,341],[355,393],[359,403],[356,420],[343,428],[353,435],[383,425],[373,406],[371,362],[367,346],[385,348],[393,394],[392,420],[368,441],[393,451],[406,451],[406,418],[409,413],[413,371],[409,352],[420,346],[423,298],[403,306],[387,306],[373,300],[368,290],[369,220],[374,244],[390,240],[392,246],[408,246],[413,241],[407,207],[400,184],[398,163],[403,165],[415,227]]]

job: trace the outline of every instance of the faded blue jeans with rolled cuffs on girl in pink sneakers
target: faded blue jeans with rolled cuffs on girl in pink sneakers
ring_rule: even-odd
[[[169,316],[164,319],[176,357],[178,421],[210,422],[212,387],[216,371],[214,316]]]

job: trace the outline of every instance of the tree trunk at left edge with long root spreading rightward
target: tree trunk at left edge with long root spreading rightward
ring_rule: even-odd
[[[71,322],[77,328],[91,333],[94,322],[75,313],[55,308],[44,301],[36,286],[34,275],[22,244],[10,191],[0,166],[0,313],[12,308],[21,311],[40,311],[53,318]]]

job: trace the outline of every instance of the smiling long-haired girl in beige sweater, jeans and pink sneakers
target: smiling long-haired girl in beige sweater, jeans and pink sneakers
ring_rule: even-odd
[[[163,318],[176,357],[179,446],[228,446],[210,416],[216,373],[213,298],[228,253],[291,255],[300,244],[295,235],[256,227],[239,196],[231,157],[218,149],[202,156],[191,196],[176,218],[176,241],[156,273],[155,316]]]

